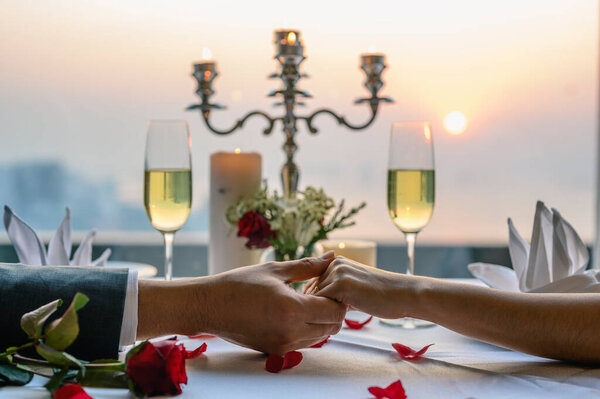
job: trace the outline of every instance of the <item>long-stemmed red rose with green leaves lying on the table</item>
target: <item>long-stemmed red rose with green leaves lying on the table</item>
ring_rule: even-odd
[[[21,328],[29,341],[0,352],[0,387],[26,385],[34,374],[49,378],[46,389],[54,399],[89,399],[83,386],[129,388],[133,396],[178,395],[187,383],[185,362],[206,350],[202,344],[187,351],[176,338],[160,342],[143,341],[133,347],[124,362],[102,359],[86,362],[65,352],[79,335],[77,311],[88,302],[77,293],[62,317],[46,322],[62,305],[57,299],[21,318]],[[34,348],[43,359],[21,352]]]

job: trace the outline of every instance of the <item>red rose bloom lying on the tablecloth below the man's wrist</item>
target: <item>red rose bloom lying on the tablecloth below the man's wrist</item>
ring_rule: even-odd
[[[185,361],[206,350],[202,344],[188,352],[175,339],[146,342],[127,360],[126,371],[131,380],[148,396],[179,395],[181,384],[187,384]]]

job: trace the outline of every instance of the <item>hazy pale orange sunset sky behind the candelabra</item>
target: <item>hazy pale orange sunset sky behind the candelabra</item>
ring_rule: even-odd
[[[359,55],[387,55],[394,97],[366,131],[328,116],[320,133],[298,134],[301,185],[323,186],[368,208],[342,237],[401,240],[385,208],[390,126],[429,120],[437,192],[428,243],[497,243],[506,218],[528,237],[535,201],[558,208],[593,236],[598,9],[571,1],[9,1],[0,0],[0,165],[60,160],[89,179],[114,179],[122,200],[142,207],[146,122],[186,119],[193,140],[194,207],[207,201],[208,156],[258,151],[279,187],[283,143],[251,120],[228,137],[199,114],[192,64],[211,49],[220,75],[214,124],[228,127],[254,109],[279,114],[266,93],[279,88],[272,31],[302,31],[314,99],[353,123],[368,117]],[[461,134],[443,124],[467,118]],[[97,226],[102,229],[102,226]],[[150,226],[149,226],[150,228]]]

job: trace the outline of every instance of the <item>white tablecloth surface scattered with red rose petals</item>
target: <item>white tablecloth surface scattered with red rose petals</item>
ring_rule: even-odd
[[[362,330],[343,328],[322,348],[301,350],[302,363],[278,374],[265,371],[264,355],[219,338],[182,342],[190,350],[206,342],[208,350],[188,361],[181,398],[369,398],[369,386],[398,379],[408,398],[600,398],[600,368],[525,355],[440,326],[404,330],[374,319]],[[435,345],[410,362],[393,342]],[[0,389],[0,398],[48,398],[44,382]],[[129,397],[125,390],[87,391],[96,399]]]

